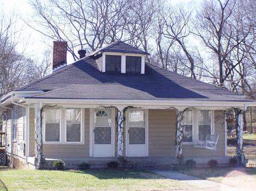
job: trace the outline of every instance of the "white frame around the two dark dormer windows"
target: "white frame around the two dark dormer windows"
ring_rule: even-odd
[[[141,57],[141,74],[145,73],[145,55],[135,53],[102,52],[102,73],[106,72],[106,55],[121,56],[121,73],[126,73],[126,56]]]

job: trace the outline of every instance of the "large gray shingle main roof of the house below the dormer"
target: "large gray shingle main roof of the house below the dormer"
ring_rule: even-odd
[[[34,98],[246,101],[199,80],[146,65],[145,74],[109,74],[86,57],[18,91],[43,90]]]

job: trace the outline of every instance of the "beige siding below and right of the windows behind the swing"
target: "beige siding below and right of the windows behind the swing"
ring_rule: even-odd
[[[214,133],[220,135],[217,144],[217,150],[208,150],[203,148],[194,148],[193,145],[183,145],[183,155],[185,157],[212,157],[225,156],[225,141],[224,141],[224,112],[214,111]]]

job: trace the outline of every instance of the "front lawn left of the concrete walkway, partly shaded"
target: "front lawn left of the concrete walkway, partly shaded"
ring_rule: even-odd
[[[0,170],[0,190],[168,190],[191,188],[147,171],[97,169],[87,171]]]

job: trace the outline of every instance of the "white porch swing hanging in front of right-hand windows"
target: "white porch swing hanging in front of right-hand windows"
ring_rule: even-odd
[[[216,150],[218,137],[220,137],[220,135],[210,135],[210,134],[208,134],[207,137],[205,138],[205,141],[199,141],[197,139],[197,141],[195,142],[194,147]]]

